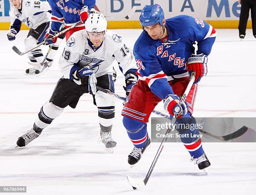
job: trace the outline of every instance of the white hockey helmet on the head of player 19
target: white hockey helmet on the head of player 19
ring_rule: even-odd
[[[102,13],[91,13],[85,21],[85,30],[90,33],[107,31],[107,20]]]

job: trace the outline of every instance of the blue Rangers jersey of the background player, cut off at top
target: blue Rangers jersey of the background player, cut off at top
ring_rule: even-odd
[[[80,21],[80,9],[85,5],[90,10],[95,6],[95,0],[49,0],[51,5],[51,30],[59,33],[62,23],[66,28]],[[83,26],[83,24],[81,25]],[[79,25],[77,26],[79,27]]]

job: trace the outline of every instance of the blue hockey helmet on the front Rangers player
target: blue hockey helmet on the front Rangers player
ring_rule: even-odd
[[[160,23],[163,25],[164,10],[160,5],[145,5],[140,15],[140,23],[142,26],[155,25]]]

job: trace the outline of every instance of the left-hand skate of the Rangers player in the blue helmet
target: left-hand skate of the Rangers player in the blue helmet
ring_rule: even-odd
[[[131,167],[133,167],[141,159],[144,152],[146,152],[147,149],[150,147],[150,143],[151,141],[150,141],[150,138],[148,137],[148,141],[145,147],[142,147],[142,148],[133,147],[133,150],[128,155],[128,163],[131,165]]]

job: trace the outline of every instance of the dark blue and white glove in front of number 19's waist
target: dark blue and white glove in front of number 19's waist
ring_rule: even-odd
[[[74,79],[81,80],[84,93],[89,93],[91,91],[92,94],[96,94],[97,79],[90,66],[83,66],[82,68],[75,70],[72,75]]]

